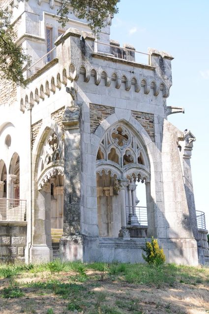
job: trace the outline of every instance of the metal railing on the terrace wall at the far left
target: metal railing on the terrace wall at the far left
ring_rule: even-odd
[[[0,198],[0,221],[25,221],[26,200]]]

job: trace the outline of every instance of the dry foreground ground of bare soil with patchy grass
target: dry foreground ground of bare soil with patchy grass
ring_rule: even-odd
[[[5,288],[14,288],[24,295],[4,298]],[[26,273],[12,280],[3,279],[0,296],[0,314],[209,313],[206,284],[155,288],[128,284],[119,277],[111,278],[94,270],[88,271],[83,279],[73,272]]]

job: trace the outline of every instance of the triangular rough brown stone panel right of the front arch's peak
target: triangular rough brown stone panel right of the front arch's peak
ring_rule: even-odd
[[[132,117],[134,117],[148,132],[152,142],[154,142],[154,115],[152,113],[131,111]]]

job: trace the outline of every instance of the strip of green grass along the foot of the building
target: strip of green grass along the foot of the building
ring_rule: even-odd
[[[88,280],[87,269],[94,269],[102,272],[94,279],[104,279],[104,275],[109,276],[113,281],[125,280],[128,283],[162,286],[167,284],[173,286],[176,283],[197,285],[209,283],[209,272],[204,267],[190,267],[176,264],[164,264],[152,266],[149,264],[129,264],[129,263],[104,263],[95,262],[85,264],[82,262],[60,262],[59,260],[42,264],[0,264],[0,278],[12,278],[21,273],[38,273],[49,271],[51,275],[60,272],[74,272],[69,276],[73,282],[85,283]]]

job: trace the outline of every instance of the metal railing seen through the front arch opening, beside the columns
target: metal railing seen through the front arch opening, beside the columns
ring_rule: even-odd
[[[148,226],[147,207],[126,206],[126,223],[127,226]]]

